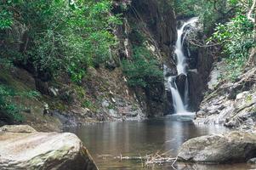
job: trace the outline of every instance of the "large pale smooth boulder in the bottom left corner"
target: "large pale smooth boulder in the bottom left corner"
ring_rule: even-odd
[[[0,169],[97,170],[72,133],[39,133],[29,126],[0,128]]]

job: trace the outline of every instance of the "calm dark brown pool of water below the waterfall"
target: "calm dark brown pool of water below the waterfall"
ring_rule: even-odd
[[[105,169],[174,169],[171,164],[145,167],[143,161],[119,161],[111,156],[145,156],[169,151],[176,156],[179,146],[187,139],[205,134],[225,132],[224,127],[196,126],[185,118],[165,117],[140,122],[103,122],[67,131],[76,133],[87,146],[100,170]],[[104,156],[105,158],[103,158]],[[203,165],[176,163],[177,169],[190,170],[247,170],[256,169],[248,164]]]

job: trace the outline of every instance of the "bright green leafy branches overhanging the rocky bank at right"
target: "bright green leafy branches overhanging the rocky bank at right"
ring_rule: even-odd
[[[247,62],[249,50],[255,47],[253,23],[240,12],[229,22],[218,24],[210,41],[217,41],[222,46],[222,54],[228,64],[226,78],[236,81]]]

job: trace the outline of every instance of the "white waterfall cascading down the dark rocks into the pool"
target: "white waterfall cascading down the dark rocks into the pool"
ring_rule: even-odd
[[[185,92],[184,95],[179,94],[179,90],[177,87],[177,84],[175,82],[176,77],[168,77],[168,88],[171,90],[172,96],[173,96],[173,102],[174,102],[174,110],[176,114],[187,114],[190,113],[187,111],[187,107],[189,105],[189,84],[188,84],[188,79],[187,79],[187,63],[186,63],[186,56],[183,52],[183,42],[185,40],[186,35],[188,34],[188,31],[185,30],[187,26],[194,26],[196,21],[198,20],[197,17],[192,18],[191,20],[186,21],[183,26],[181,26],[178,29],[178,38],[177,42],[175,44],[175,55],[176,55],[176,60],[177,60],[177,71],[178,71],[178,76],[181,74],[184,74],[186,79],[185,79]],[[182,97],[184,99],[182,99]]]

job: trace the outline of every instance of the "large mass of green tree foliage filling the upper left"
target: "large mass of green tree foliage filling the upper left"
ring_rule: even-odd
[[[111,29],[121,21],[119,15],[110,15],[111,4],[111,0],[3,1],[0,30],[18,20],[27,27],[24,43],[29,47],[20,52],[4,46],[0,56],[53,75],[65,71],[80,82],[88,66],[104,63],[116,45]],[[12,44],[8,34],[0,36]]]

